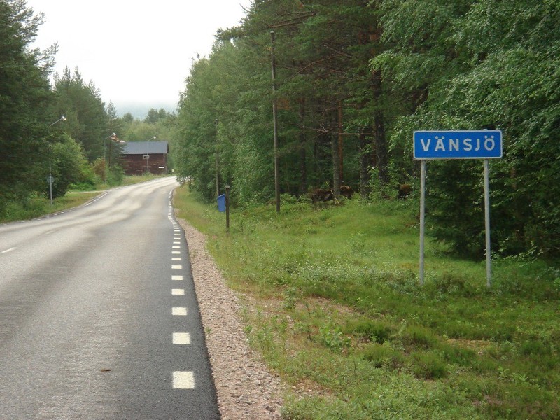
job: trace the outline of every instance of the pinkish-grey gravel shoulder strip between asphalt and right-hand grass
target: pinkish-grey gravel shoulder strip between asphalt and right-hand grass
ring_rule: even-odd
[[[225,284],[204,235],[178,221],[187,239],[222,419],[281,419],[281,381],[249,347],[239,297]]]

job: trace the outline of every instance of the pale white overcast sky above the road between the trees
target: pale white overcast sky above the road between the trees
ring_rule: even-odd
[[[174,111],[193,59],[208,56],[216,31],[239,24],[250,5],[251,0],[27,0],[35,13],[45,14],[33,46],[58,43],[56,71],[78,67],[85,83],[92,80],[120,115],[138,105]]]

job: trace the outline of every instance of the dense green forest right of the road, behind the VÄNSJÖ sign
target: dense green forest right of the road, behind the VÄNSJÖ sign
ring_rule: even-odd
[[[256,0],[190,69],[179,172],[207,200],[230,184],[241,205],[274,200],[275,160],[283,194],[345,184],[391,199],[418,193],[414,130],[502,130],[493,249],[557,257],[558,22],[557,0]],[[474,257],[482,174],[479,160],[428,163],[432,232]]]

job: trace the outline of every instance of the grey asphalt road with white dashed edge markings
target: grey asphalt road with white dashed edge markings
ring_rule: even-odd
[[[0,419],[219,419],[175,186],[0,225]]]

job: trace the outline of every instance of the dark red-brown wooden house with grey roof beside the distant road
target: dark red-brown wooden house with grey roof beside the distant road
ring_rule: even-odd
[[[120,161],[125,174],[167,174],[167,141],[129,141],[123,145]]]

